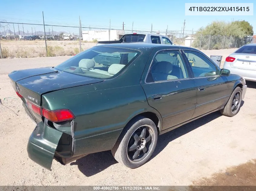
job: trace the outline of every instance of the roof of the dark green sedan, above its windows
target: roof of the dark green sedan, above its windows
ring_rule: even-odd
[[[129,48],[129,49],[145,49],[145,48],[156,48],[162,47],[163,49],[191,49],[197,50],[191,47],[178,46],[178,45],[167,45],[167,44],[149,44],[149,43],[114,43],[114,44],[102,44],[100,46],[105,47],[119,47],[119,48]]]

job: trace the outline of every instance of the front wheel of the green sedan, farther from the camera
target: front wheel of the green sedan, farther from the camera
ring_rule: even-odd
[[[232,92],[228,100],[228,103],[225,105],[225,107],[222,110],[220,110],[221,114],[228,117],[235,116],[240,110],[241,101],[242,101],[242,90],[240,87],[236,87]]]

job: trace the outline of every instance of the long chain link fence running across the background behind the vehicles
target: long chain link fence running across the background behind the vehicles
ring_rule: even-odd
[[[71,56],[95,46],[98,40],[118,40],[127,33],[161,34],[176,45],[205,50],[238,48],[255,40],[252,37],[201,35],[194,32],[81,27],[80,21],[77,26],[0,22],[0,56]],[[98,38],[99,33],[102,39]]]

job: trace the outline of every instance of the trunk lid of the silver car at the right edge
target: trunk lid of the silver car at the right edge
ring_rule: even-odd
[[[233,53],[230,56],[235,58],[230,62],[231,67],[256,70],[256,54]]]

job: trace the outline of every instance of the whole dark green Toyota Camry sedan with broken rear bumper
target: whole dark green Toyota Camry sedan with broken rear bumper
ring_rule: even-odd
[[[139,43],[95,46],[9,78],[36,123],[28,156],[49,170],[53,159],[65,165],[106,150],[140,167],[158,135],[217,110],[236,115],[247,88],[197,49]]]

